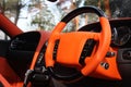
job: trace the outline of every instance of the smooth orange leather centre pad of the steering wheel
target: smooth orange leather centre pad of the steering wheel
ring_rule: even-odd
[[[57,50],[57,62],[72,67],[81,67],[80,55],[87,39],[98,40],[98,33],[72,32],[60,34],[60,42]],[[97,37],[97,38],[96,38]]]

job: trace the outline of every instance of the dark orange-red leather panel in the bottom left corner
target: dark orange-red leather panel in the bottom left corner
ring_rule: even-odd
[[[0,57],[0,82],[4,87],[22,87],[23,82],[11,69],[5,58]]]

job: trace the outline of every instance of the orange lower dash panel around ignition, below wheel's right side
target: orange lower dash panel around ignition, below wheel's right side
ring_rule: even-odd
[[[109,51],[115,52],[115,57],[105,58],[102,62],[108,63],[109,67],[106,70],[104,66],[98,64],[97,69],[90,74],[92,77],[104,78],[104,79],[122,79],[117,66],[117,50],[109,48]]]

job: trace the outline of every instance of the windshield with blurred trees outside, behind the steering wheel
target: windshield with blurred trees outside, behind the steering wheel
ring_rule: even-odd
[[[24,32],[52,30],[66,14],[85,5],[102,9],[109,20],[131,16],[131,0],[0,0],[0,5],[2,13]],[[67,30],[94,21],[97,21],[94,14],[83,14],[74,18]]]

